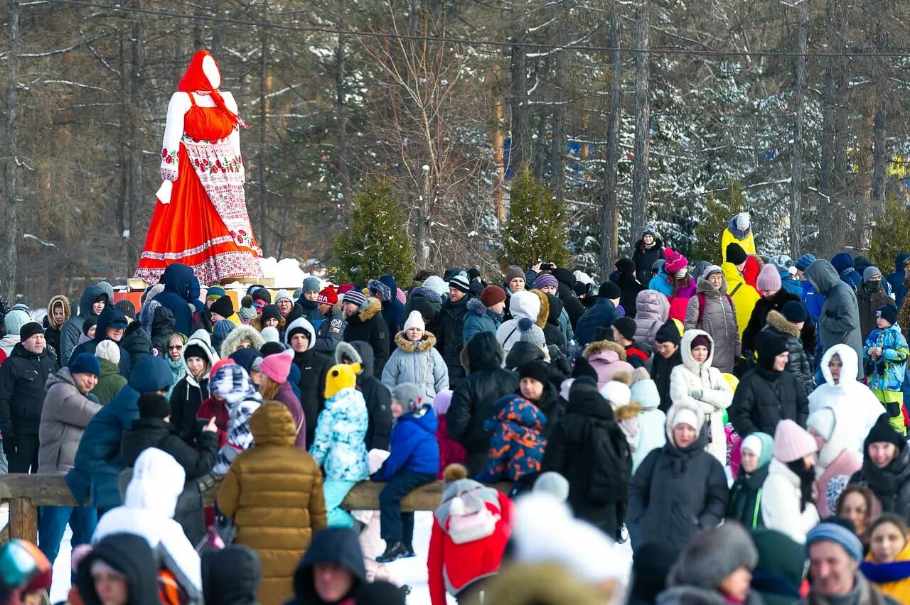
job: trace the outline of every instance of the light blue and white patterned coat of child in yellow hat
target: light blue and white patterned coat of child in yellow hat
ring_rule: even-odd
[[[367,404],[356,389],[342,389],[319,412],[316,436],[309,447],[327,480],[363,481],[367,466]]]

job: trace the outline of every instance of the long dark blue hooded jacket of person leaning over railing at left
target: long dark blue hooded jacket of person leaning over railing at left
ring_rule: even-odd
[[[120,506],[117,476],[126,468],[120,456],[123,431],[139,418],[138,401],[143,392],[167,391],[174,373],[163,357],[147,355],[129,375],[129,382],[114,399],[88,422],[79,440],[76,462],[66,473],[66,485],[76,501],[112,509]]]

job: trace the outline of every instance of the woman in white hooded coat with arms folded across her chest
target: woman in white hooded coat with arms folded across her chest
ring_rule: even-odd
[[[714,340],[703,330],[686,330],[680,342],[682,364],[670,374],[670,399],[673,403],[698,405],[704,412],[708,431],[705,448],[726,464],[727,438],[723,431],[723,411],[733,402],[733,391],[717,368],[711,367]]]

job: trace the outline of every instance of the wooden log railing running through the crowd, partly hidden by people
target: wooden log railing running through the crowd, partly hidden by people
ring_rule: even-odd
[[[379,491],[385,483],[361,481],[349,491],[341,503],[347,511],[379,510]],[[497,483],[494,487],[502,492],[511,489],[511,483]],[[215,501],[218,486],[203,494],[203,500],[210,504]],[[440,505],[441,481],[422,485],[411,491],[401,501],[402,511],[433,511]],[[66,486],[62,475],[8,474],[0,476],[0,501],[9,502],[9,537],[37,541],[39,506],[79,506]]]

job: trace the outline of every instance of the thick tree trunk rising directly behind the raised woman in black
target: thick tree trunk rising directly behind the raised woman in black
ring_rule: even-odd
[[[640,0],[635,19],[635,47],[645,49],[650,42],[651,0]],[[632,224],[629,233],[642,233],[648,217],[648,155],[651,130],[650,57],[635,55],[635,157],[632,161]],[[629,238],[630,241],[634,237]],[[631,253],[631,246],[630,246]]]

